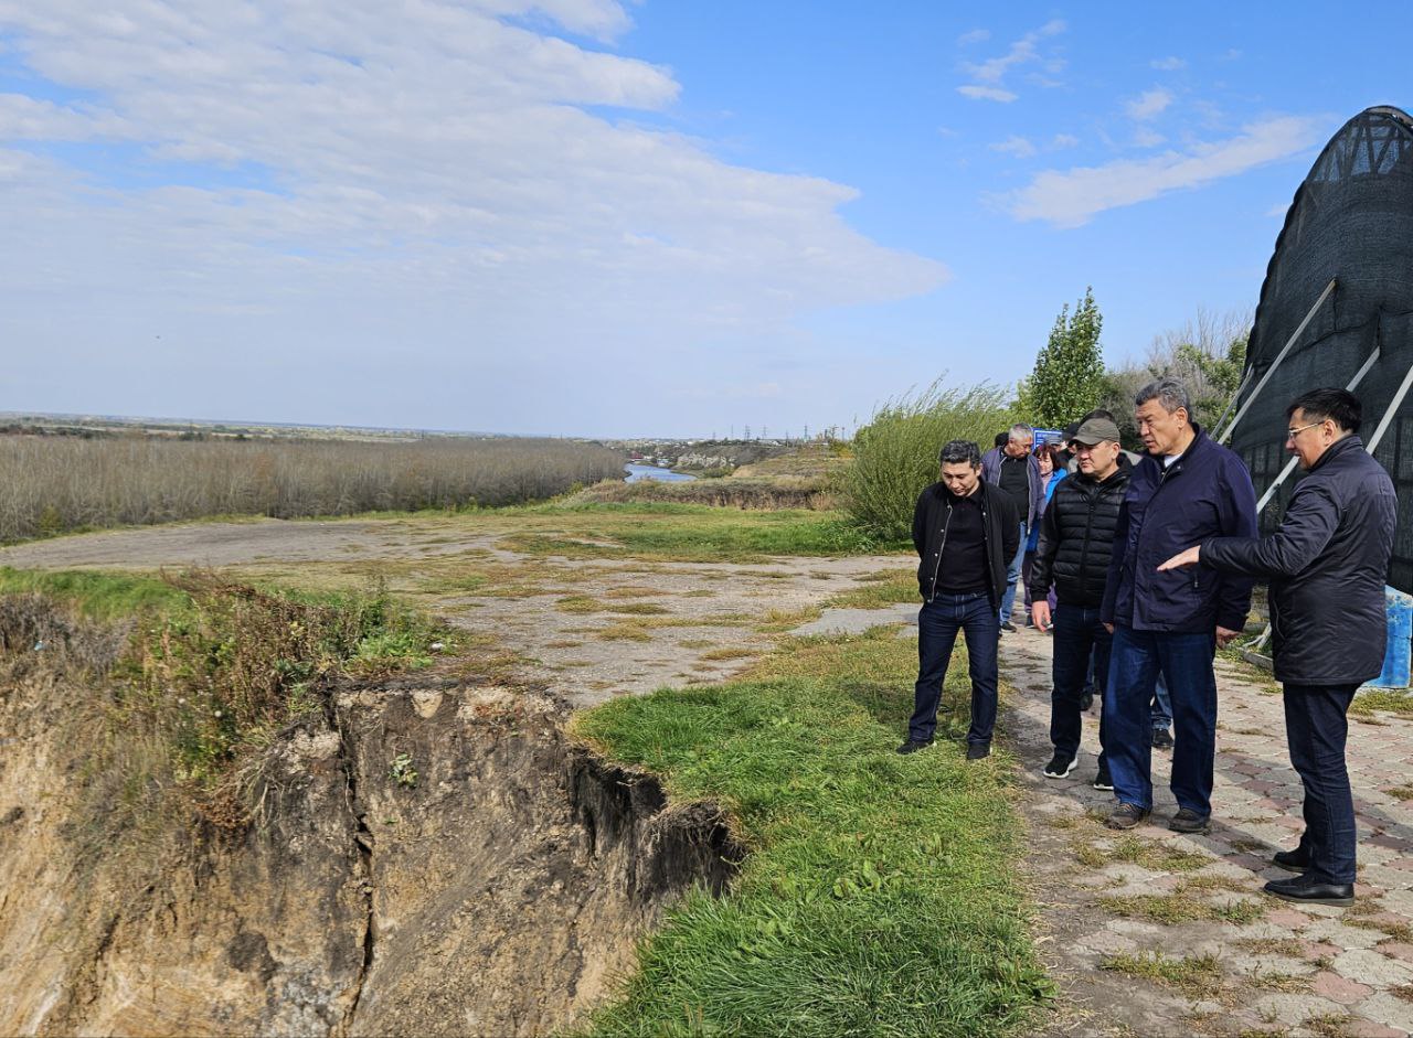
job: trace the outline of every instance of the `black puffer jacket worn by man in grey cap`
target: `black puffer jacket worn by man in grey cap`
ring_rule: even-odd
[[[1098,609],[1104,603],[1113,531],[1132,473],[1121,453],[1118,470],[1102,483],[1075,472],[1056,484],[1030,566],[1031,602],[1043,600],[1054,583],[1063,606]]]

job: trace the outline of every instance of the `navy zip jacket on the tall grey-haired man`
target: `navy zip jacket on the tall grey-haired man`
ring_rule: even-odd
[[[1167,469],[1147,456],[1133,469],[1099,619],[1140,631],[1239,631],[1251,610],[1249,576],[1208,566],[1157,572],[1160,563],[1212,537],[1256,535],[1256,491],[1242,460],[1201,426]]]

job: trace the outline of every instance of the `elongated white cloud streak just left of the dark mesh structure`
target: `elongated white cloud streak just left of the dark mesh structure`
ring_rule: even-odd
[[[1317,140],[1318,126],[1313,119],[1272,119],[1245,127],[1239,137],[1202,144],[1186,154],[1167,153],[1143,161],[1078,167],[1065,172],[1046,171],[1027,186],[998,201],[1017,220],[1078,227],[1106,209],[1235,177],[1294,155]]]

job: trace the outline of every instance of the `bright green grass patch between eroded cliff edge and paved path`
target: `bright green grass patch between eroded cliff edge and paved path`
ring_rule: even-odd
[[[1016,880],[1009,764],[944,739],[893,753],[916,648],[892,630],[794,638],[745,681],[578,715],[574,733],[725,805],[752,849],[690,894],[595,1034],[1006,1035],[1050,996]],[[965,713],[965,664],[947,699]],[[955,736],[964,720],[942,724]]]

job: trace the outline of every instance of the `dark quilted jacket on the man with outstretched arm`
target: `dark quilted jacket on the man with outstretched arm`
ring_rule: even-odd
[[[1383,669],[1383,585],[1399,500],[1358,436],[1330,445],[1296,484],[1280,528],[1202,542],[1202,565],[1270,580],[1276,679],[1359,685]]]

